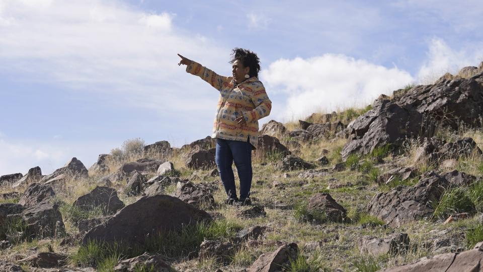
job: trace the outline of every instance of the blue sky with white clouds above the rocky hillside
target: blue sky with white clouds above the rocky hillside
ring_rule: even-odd
[[[257,52],[263,122],[296,120],[477,66],[481,14],[480,0],[0,0],[0,175],[209,135],[218,94],[178,52],[222,75],[233,47]]]

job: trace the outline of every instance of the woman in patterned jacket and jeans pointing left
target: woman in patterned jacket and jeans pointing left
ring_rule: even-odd
[[[268,116],[272,102],[258,80],[260,59],[252,51],[235,48],[232,52],[232,77],[219,76],[201,64],[180,54],[178,65],[200,77],[220,92],[213,125],[216,138],[215,161],[228,204],[251,205],[252,150],[258,143],[258,120]],[[236,196],[231,165],[235,162],[240,179],[240,198]]]

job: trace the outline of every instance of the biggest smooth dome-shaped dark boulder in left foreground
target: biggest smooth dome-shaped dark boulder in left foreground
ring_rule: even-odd
[[[145,237],[179,231],[183,226],[202,221],[211,221],[210,215],[176,197],[143,196],[91,229],[83,237],[82,243],[97,240],[111,244],[122,241],[130,246],[144,244]]]

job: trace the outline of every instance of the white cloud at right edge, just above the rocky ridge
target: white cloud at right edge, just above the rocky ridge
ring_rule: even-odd
[[[454,50],[440,38],[429,42],[428,58],[421,66],[418,80],[422,84],[431,84],[446,72],[457,74],[464,66],[478,65],[483,60],[483,49]]]

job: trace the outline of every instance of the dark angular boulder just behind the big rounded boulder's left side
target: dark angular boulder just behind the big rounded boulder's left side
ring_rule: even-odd
[[[105,215],[115,214],[124,208],[124,203],[117,196],[116,189],[97,186],[91,192],[79,196],[72,204],[83,211],[101,208]]]

